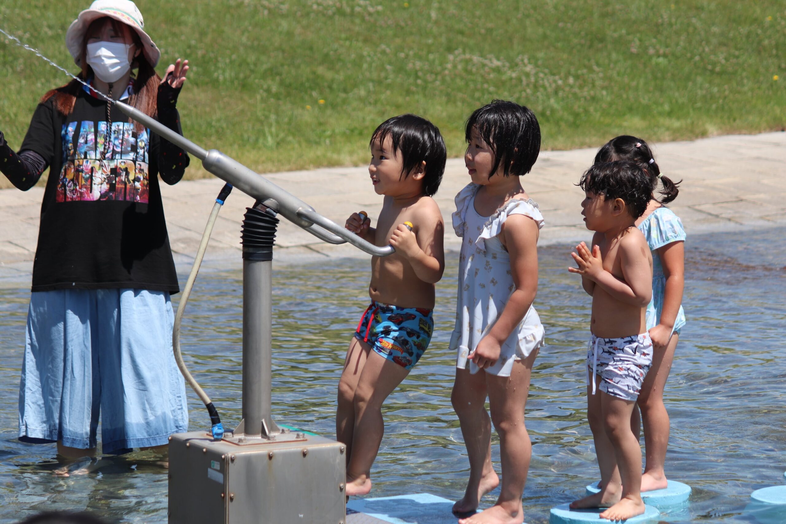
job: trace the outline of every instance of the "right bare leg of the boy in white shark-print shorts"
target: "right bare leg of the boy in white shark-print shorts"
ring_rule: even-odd
[[[636,401],[627,401],[600,392],[604,425],[623,482],[622,498],[617,504],[603,511],[601,519],[625,520],[645,511],[641,500],[641,446],[630,431],[630,414]],[[600,452],[599,452],[600,453]]]

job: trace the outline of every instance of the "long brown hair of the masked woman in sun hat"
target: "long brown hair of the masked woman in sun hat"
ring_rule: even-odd
[[[93,23],[90,24],[90,27],[88,27],[87,31],[85,31],[85,41],[83,42],[82,46],[82,60],[80,60],[80,63],[82,64],[82,71],[80,71],[79,75],[77,75],[80,80],[84,81],[90,78],[90,75],[93,73],[93,69],[90,68],[90,65],[87,64],[85,57],[88,35],[90,35],[94,29],[100,27],[101,24],[105,24],[106,20],[110,21],[112,27],[114,27],[118,34],[123,34],[123,25],[125,24],[115,20],[114,18],[105,16],[98,18],[97,20],[93,20]],[[161,77],[158,75],[158,73],[156,73],[156,69],[152,67],[152,65],[147,60],[147,57],[145,57],[144,47],[142,46],[142,42],[139,39],[137,32],[131,30],[131,36],[134,40],[134,44],[137,46],[137,49],[140,49],[140,53],[138,57],[134,57],[134,63],[131,64],[131,68],[133,69],[134,66],[136,66],[138,71],[136,79],[134,79],[134,93],[129,97],[128,104],[134,108],[137,108],[141,112],[144,112],[145,115],[156,118],[158,116],[158,86],[161,82]],[[47,91],[46,94],[41,98],[41,103],[48,101],[50,98],[53,98],[53,104],[55,109],[57,109],[57,112],[61,113],[61,115],[68,116],[74,111],[76,96],[79,94],[79,90],[81,89],[83,89],[82,84],[76,80],[72,80],[64,86]],[[144,128],[144,126],[142,126],[140,123],[135,123],[131,119],[128,119],[128,122],[134,123],[138,132]]]

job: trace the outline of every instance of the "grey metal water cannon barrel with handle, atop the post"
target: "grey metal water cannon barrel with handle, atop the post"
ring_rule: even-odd
[[[292,195],[292,193],[281,189],[267,178],[259,173],[255,173],[230,156],[226,156],[216,149],[208,151],[201,148],[188,138],[183,137],[156,119],[145,115],[145,113],[128,104],[120,101],[116,101],[115,104],[130,119],[144,124],[150,130],[160,135],[160,137],[196,156],[210,173],[215,174],[223,181],[229,182],[248,196],[261,201],[267,207],[281,214],[289,222],[305,229],[318,239],[330,244],[349,242],[354,247],[369,253],[369,255],[378,257],[391,255],[395,251],[392,246],[375,246],[348,229],[336,224],[336,222],[332,222],[329,218],[318,214],[317,211],[314,211],[314,207],[303,202],[303,200]]]

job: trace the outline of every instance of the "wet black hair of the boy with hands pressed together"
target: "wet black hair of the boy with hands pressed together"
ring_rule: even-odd
[[[577,184],[586,192],[603,195],[606,200],[621,198],[634,219],[647,211],[652,198],[649,175],[630,160],[593,164]]]

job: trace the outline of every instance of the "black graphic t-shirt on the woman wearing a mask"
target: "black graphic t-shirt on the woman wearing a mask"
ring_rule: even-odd
[[[128,93],[128,92],[127,92]],[[180,131],[178,90],[159,90],[160,122]],[[162,104],[162,100],[169,99]],[[182,178],[182,149],[79,91],[64,116],[53,98],[36,108],[21,151],[50,165],[41,205],[32,291],[138,288],[178,292],[158,174]],[[163,109],[163,111],[162,111]]]

